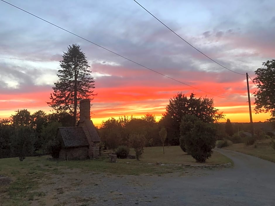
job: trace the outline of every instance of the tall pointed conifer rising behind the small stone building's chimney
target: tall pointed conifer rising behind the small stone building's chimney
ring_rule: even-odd
[[[59,80],[52,88],[54,91],[50,96],[51,102],[47,103],[56,111],[69,111],[76,124],[78,102],[84,98],[93,99],[94,78],[90,77],[90,66],[85,53],[76,44],[69,45],[68,51],[63,53],[60,67],[57,74]]]

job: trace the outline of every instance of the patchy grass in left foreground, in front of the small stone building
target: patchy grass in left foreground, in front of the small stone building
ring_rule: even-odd
[[[57,161],[50,156],[26,157],[23,162],[19,158],[0,159],[0,175],[12,179],[9,185],[0,185],[1,206],[30,205],[33,200],[39,200],[45,194],[34,190],[43,187],[51,181],[52,175],[65,175],[68,170],[78,169],[81,174],[95,172],[96,174],[116,175],[161,175],[173,172],[184,172],[182,167],[161,167],[157,165],[138,165],[125,163],[110,163],[103,160]],[[41,202],[40,205],[44,205]]]

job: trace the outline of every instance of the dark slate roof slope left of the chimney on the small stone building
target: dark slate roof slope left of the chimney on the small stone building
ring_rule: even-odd
[[[65,147],[89,146],[82,127],[59,127],[58,133],[60,133]]]

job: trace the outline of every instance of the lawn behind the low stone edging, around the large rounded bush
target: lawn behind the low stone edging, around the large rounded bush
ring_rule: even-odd
[[[170,146],[170,147],[164,147],[164,152],[162,147],[147,147],[144,148],[144,153],[142,154],[142,157],[140,158],[140,161],[137,160],[119,160],[119,161],[125,161],[125,162],[140,162],[140,163],[156,163],[161,162],[164,164],[201,164],[196,163],[195,159],[191,155],[187,155],[184,153],[180,146]],[[134,155],[135,151],[133,149],[130,150],[130,154]],[[231,162],[231,159],[228,157],[222,155],[221,153],[218,153],[214,151],[212,154],[212,157],[206,160],[203,164],[208,165],[217,165],[217,164],[224,164]]]

